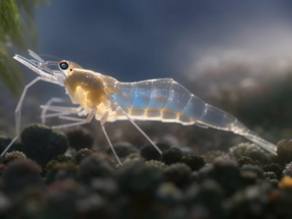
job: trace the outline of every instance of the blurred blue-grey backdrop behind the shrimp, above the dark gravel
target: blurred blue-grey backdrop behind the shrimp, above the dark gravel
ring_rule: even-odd
[[[292,136],[291,10],[288,0],[52,0],[35,9],[35,52],[72,60],[120,81],[173,77],[276,143]],[[15,50],[27,57],[24,50]],[[20,69],[24,84],[36,77],[26,67]],[[0,92],[0,128],[13,137],[19,96],[4,83]],[[40,122],[39,105],[53,96],[66,97],[53,84],[39,82],[30,88],[22,127]],[[62,121],[48,120],[49,125],[56,123]],[[243,140],[196,126],[139,125],[154,139],[170,134],[180,145],[200,150],[226,149]],[[96,134],[97,144],[105,144],[98,122],[84,127]],[[113,141],[144,141],[128,121],[106,128]]]

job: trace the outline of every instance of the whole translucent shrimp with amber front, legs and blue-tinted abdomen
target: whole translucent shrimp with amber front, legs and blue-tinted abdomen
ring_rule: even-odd
[[[34,60],[28,60],[19,55],[13,57],[39,74],[39,77],[25,86],[15,110],[17,135],[19,135],[20,129],[21,105],[27,88],[37,81],[47,81],[64,86],[72,103],[79,105],[79,107],[41,106],[44,110],[56,112],[54,116],[71,121],[69,124],[52,128],[86,124],[95,117],[100,121],[105,137],[118,162],[120,162],[119,157],[104,128],[105,122],[129,120],[159,153],[161,150],[135,123],[135,120],[175,122],[182,125],[194,124],[203,128],[211,127],[230,131],[242,135],[265,150],[276,154],[277,147],[274,144],[260,138],[236,117],[204,102],[171,78],[120,82],[113,77],[83,69],[71,61],[45,62],[36,53],[30,50],[29,53]],[[60,71],[49,69],[50,65],[58,65]],[[87,115],[87,118],[69,117],[69,114]],[[16,136],[13,140],[15,141],[17,138]],[[7,150],[6,148],[2,155]]]

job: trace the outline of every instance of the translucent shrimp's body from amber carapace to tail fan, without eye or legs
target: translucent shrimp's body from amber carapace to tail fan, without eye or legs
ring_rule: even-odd
[[[74,85],[69,87],[74,88],[73,94],[72,89],[67,85],[71,77]],[[207,104],[171,78],[120,82],[96,72],[73,69],[71,73],[68,73],[64,84],[67,89],[69,88],[68,93],[71,97],[78,99],[77,102],[82,106],[97,106],[96,119],[100,119],[107,111],[108,122],[127,120],[131,117],[134,120],[176,122],[182,125],[196,124],[232,131],[243,135],[271,153],[276,153],[275,145],[260,138],[236,117]],[[89,90],[88,86],[90,86]],[[111,101],[119,105],[127,115],[120,109],[109,110]]]

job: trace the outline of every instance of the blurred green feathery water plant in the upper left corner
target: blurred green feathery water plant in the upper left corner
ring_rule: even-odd
[[[37,47],[34,9],[42,3],[50,0],[0,1],[0,78],[13,95],[20,94],[23,78],[10,50]]]

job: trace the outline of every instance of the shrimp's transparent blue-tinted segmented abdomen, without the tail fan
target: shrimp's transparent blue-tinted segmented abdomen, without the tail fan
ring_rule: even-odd
[[[136,120],[161,120],[183,125],[201,124],[225,131],[246,127],[231,114],[207,104],[173,79],[118,82],[114,100]],[[117,119],[126,119],[117,112]]]

